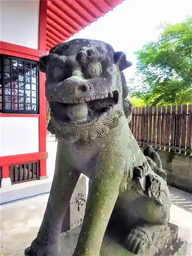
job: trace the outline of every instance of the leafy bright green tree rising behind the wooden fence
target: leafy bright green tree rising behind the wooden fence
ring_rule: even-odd
[[[161,28],[156,41],[136,52],[137,74],[145,90],[135,96],[147,105],[192,102],[192,17]]]

